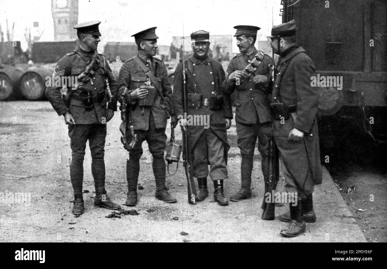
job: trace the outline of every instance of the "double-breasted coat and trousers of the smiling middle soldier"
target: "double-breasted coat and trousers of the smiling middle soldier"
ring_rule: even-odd
[[[212,180],[223,180],[228,175],[226,163],[229,150],[224,119],[233,118],[230,98],[225,96],[222,91],[223,67],[211,57],[199,60],[192,56],[185,60],[185,72],[187,93],[202,95],[202,102],[199,106],[195,100],[188,98],[187,116],[202,116],[203,118],[208,116],[209,118],[209,122],[206,122],[207,126],[204,125],[204,122],[201,122],[202,124],[196,122],[197,125],[188,125],[187,123],[186,126],[194,176],[204,178],[210,175]],[[208,100],[213,92],[223,96],[222,110],[210,109]],[[182,63],[179,63],[175,70],[173,105],[176,116],[178,118],[184,117]],[[208,171],[208,164],[210,164],[210,171]]]

